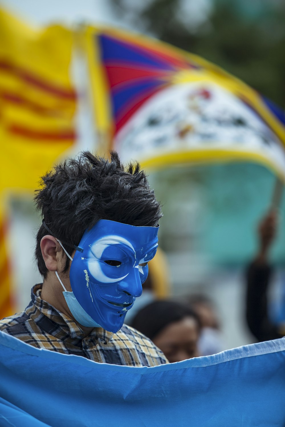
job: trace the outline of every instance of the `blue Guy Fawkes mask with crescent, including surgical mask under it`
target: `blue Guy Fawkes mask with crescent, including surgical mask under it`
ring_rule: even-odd
[[[71,263],[72,292],[63,292],[81,325],[118,332],[142,293],[147,262],[156,254],[158,229],[100,219],[85,231],[78,245],[83,250],[76,251]]]

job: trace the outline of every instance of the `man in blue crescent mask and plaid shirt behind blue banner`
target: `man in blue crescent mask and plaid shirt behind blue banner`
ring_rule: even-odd
[[[42,177],[35,257],[43,284],[0,330],[37,348],[102,363],[155,366],[163,353],[123,325],[157,249],[161,207],[139,165],[83,152]]]

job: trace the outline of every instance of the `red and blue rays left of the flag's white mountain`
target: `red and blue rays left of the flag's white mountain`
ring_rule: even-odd
[[[146,47],[115,35],[98,36],[101,61],[106,71],[109,97],[117,133],[130,117],[154,94],[167,88],[182,70],[200,69],[167,47]]]

